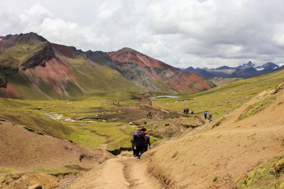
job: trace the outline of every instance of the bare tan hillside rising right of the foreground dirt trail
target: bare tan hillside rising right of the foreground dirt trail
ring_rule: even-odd
[[[219,125],[215,121],[165,141],[144,154],[142,165],[151,164],[147,171],[168,188],[254,188],[250,171],[284,152],[284,118],[275,119],[284,108],[283,86],[269,91],[225,115]],[[256,178],[266,179],[261,172]],[[262,188],[277,188],[283,179],[270,181]]]

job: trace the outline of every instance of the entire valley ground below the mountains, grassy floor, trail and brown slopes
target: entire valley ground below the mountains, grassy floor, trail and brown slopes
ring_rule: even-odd
[[[280,70],[153,101],[149,97],[162,94],[1,98],[0,186],[249,188],[262,176],[247,176],[252,170],[257,172],[283,155],[284,120],[275,121],[283,109],[283,85],[279,85],[283,76]],[[184,107],[194,114],[183,114]],[[204,119],[205,110],[213,115],[213,122]],[[147,118],[150,111],[153,116]],[[130,143],[138,126],[147,128],[151,136],[151,148],[140,160],[133,158]],[[110,167],[116,167],[114,177],[108,177],[113,173]],[[269,178],[267,186],[282,183],[280,178]]]

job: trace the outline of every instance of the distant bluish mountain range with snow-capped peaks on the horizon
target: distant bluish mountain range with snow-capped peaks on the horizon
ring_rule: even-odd
[[[193,68],[188,67],[185,70],[192,71],[196,74],[203,76],[205,79],[212,79],[214,77],[220,78],[242,78],[247,79],[263,74],[268,74],[273,71],[283,69],[284,66],[278,66],[275,63],[267,62],[262,66],[255,66],[254,63],[248,61],[247,63],[238,67],[221,66],[219,68]]]

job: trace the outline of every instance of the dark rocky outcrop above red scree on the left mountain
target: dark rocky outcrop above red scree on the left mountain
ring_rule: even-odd
[[[30,55],[21,63],[21,69],[25,71],[28,68],[34,68],[35,66],[45,67],[45,61],[54,57],[54,50],[49,42],[46,42],[44,47]]]

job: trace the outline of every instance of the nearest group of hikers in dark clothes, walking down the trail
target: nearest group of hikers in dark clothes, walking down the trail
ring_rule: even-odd
[[[146,128],[138,127],[137,131],[132,135],[133,156],[140,159],[141,155],[150,147],[150,135]]]

